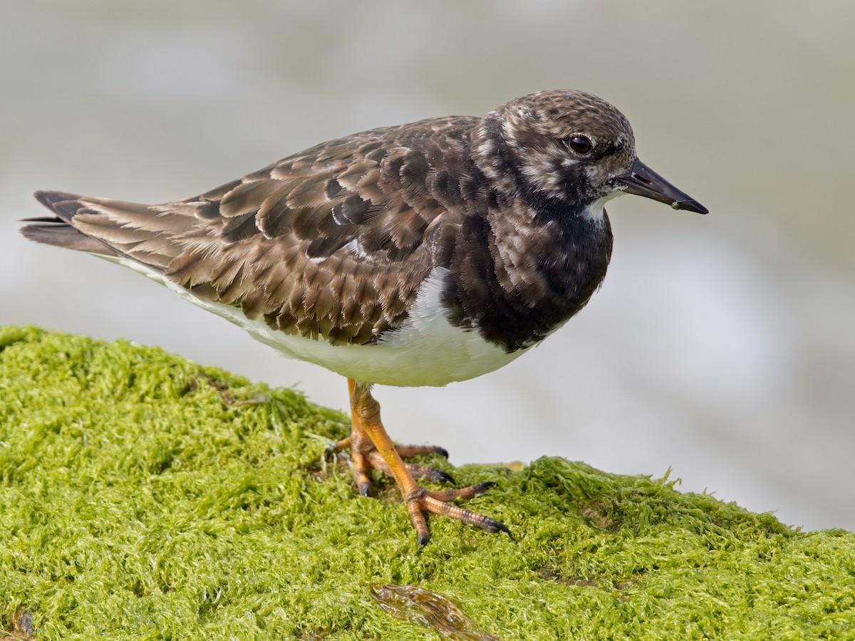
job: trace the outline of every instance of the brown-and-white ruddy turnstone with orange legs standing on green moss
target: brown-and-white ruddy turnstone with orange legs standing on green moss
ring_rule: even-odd
[[[450,116],[317,144],[201,196],[144,205],[61,191],[21,232],[135,269],[287,356],[347,377],[353,478],[395,480],[420,544],[426,513],[508,532],[451,501],[402,456],[371,395],[501,368],[588,302],[622,193],[705,214],[648,168],[628,120],[583,91],[540,91],[483,118]]]

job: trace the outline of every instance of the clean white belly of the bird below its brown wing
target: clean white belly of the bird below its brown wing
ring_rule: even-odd
[[[162,273],[139,262],[119,258],[115,262],[166,285],[180,297],[243,327],[253,338],[286,356],[313,362],[363,383],[416,387],[446,385],[455,380],[474,379],[504,367],[526,350],[507,353],[486,342],[475,330],[451,326],[439,308],[439,293],[448,276],[445,268],[434,268],[418,291],[410,317],[386,340],[371,345],[332,345],[271,329],[264,321],[251,321],[240,309],[194,297]]]

